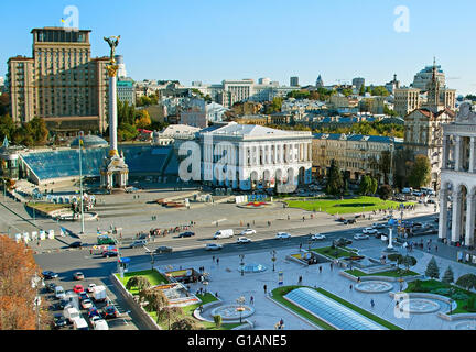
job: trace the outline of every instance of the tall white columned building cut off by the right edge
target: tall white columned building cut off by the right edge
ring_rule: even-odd
[[[443,125],[439,239],[474,246],[476,217],[476,112],[463,103]]]

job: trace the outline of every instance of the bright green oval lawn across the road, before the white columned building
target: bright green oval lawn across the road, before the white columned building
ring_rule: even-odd
[[[378,197],[356,197],[351,199],[307,198],[307,200],[284,200],[290,208],[309,211],[325,211],[329,215],[361,213],[379,209],[397,209],[400,202],[382,200]],[[410,204],[407,204],[410,205]]]

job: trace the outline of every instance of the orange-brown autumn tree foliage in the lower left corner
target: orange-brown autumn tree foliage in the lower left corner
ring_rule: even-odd
[[[36,311],[33,309],[36,289],[33,279],[40,268],[33,251],[7,235],[0,235],[0,330],[35,330]],[[47,315],[39,307],[40,329],[45,328]]]

